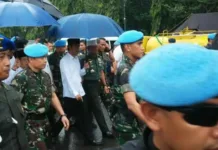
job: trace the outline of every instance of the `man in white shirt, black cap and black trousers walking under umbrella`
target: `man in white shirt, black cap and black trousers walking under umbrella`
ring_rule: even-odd
[[[80,40],[68,39],[67,42],[68,53],[60,61],[64,111],[69,118],[72,116],[76,118],[76,123],[85,138],[91,141],[92,144],[96,144],[95,141],[91,140],[92,118],[87,118],[85,115],[85,92],[81,77],[86,74],[86,69],[89,68],[89,64],[85,63],[84,67],[81,69],[78,58]]]

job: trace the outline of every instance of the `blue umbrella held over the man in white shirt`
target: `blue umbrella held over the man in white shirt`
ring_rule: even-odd
[[[48,35],[56,38],[94,38],[119,36],[123,30],[111,18],[82,13],[70,15],[58,20],[59,26],[52,26]],[[54,34],[55,33],[55,34]]]

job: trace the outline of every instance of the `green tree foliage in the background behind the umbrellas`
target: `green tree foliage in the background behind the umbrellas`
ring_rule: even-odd
[[[96,13],[114,19],[124,26],[124,1],[126,1],[127,30],[136,29],[146,35],[163,30],[173,30],[191,13],[218,11],[218,1],[214,0],[50,0],[66,15],[76,13]],[[45,28],[0,28],[6,36],[15,34],[33,39],[44,36]]]

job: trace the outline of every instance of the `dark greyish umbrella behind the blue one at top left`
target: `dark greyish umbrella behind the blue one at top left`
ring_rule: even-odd
[[[52,15],[57,19],[63,17],[63,14],[60,12],[60,10],[56,6],[54,6],[49,0],[0,0],[0,1],[30,3],[41,7],[42,9],[44,9],[50,15]]]

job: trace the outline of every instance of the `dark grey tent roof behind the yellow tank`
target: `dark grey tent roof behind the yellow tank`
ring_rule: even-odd
[[[218,30],[218,12],[191,14],[175,31],[179,32],[186,27],[198,31]]]

